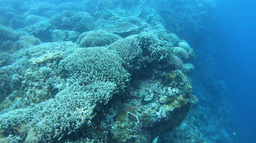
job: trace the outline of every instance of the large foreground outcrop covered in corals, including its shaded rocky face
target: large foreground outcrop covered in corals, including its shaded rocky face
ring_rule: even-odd
[[[95,34],[106,39],[90,44]],[[148,142],[184,120],[191,84],[168,61],[173,43],[152,34],[118,40],[104,31],[80,39],[88,48],[44,43],[20,49],[16,62],[1,67],[2,135],[51,142],[83,132],[96,142]]]

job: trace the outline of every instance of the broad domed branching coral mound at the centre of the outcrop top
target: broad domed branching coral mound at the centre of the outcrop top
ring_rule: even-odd
[[[91,47],[74,51],[59,63],[58,71],[63,77],[72,77],[71,83],[72,79],[78,79],[81,84],[94,80],[111,81],[121,90],[130,76],[121,64],[122,61],[115,51],[104,47]]]

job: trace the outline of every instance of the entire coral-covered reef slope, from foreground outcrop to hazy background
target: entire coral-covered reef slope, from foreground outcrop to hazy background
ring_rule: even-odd
[[[208,6],[4,0],[0,142],[225,140],[225,130],[195,109],[188,74],[196,54],[180,40],[200,31]],[[210,119],[208,134],[222,134],[208,137],[196,117]]]

